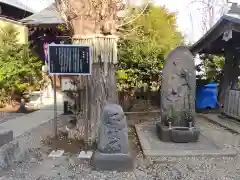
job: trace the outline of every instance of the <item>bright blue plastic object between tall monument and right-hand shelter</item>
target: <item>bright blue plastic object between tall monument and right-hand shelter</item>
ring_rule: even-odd
[[[196,108],[206,109],[206,108],[217,108],[217,84],[207,84],[200,86],[196,91]]]

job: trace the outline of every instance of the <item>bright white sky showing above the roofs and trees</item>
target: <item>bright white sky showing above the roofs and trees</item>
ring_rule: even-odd
[[[47,7],[54,0],[19,0],[26,6],[40,11]],[[135,0],[140,2],[140,0]],[[201,12],[198,11],[200,4],[191,4],[193,0],[154,0],[156,4],[165,5],[171,12],[177,12],[177,23],[179,30],[185,36],[187,42],[196,42],[204,32],[201,30]],[[218,2],[224,0],[218,0]],[[231,0],[231,2],[239,2],[240,0]],[[216,13],[217,21],[220,14]],[[192,19],[192,21],[191,21]]]

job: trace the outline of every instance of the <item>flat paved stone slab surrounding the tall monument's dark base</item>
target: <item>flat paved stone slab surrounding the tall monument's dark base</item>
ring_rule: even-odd
[[[135,125],[136,132],[146,157],[179,156],[236,156],[237,152],[223,149],[200,129],[199,141],[196,143],[162,142],[156,133],[156,125]],[[207,134],[207,133],[206,133]]]

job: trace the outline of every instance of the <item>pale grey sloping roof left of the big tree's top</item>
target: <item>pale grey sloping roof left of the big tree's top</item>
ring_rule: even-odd
[[[46,9],[39,13],[33,14],[21,20],[24,24],[40,25],[40,24],[63,24],[59,11],[57,10],[56,3],[53,3]]]

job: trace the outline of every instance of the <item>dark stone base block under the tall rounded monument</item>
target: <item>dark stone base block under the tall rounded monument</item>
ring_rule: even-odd
[[[169,129],[160,122],[156,125],[157,135],[163,142],[189,143],[197,142],[200,135],[200,130],[197,128],[188,127],[173,127]]]

